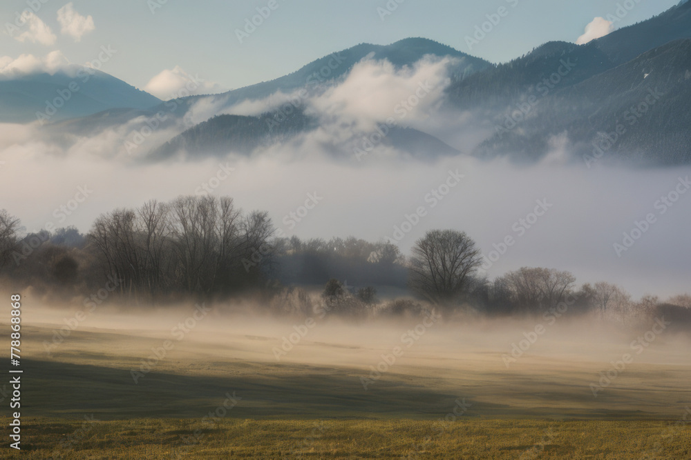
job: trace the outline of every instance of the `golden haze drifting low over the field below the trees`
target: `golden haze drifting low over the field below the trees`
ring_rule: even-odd
[[[172,376],[180,370],[196,377],[227,377],[227,384],[244,397],[239,406],[243,412],[259,408],[261,401],[271,400],[275,391],[281,391],[248,386],[250,376],[261,381],[287,372],[288,379],[288,374],[298,372],[295,378],[301,378],[297,377],[301,369],[302,377],[322,370],[338,374],[341,392],[358,395],[358,402],[350,407],[354,413],[368,412],[368,400],[384,397],[386,389],[399,391],[404,382],[436,394],[439,401],[452,394],[467,400],[474,405],[474,413],[468,412],[470,417],[541,414],[559,419],[605,417],[608,411],[625,417],[674,417],[680,405],[691,401],[685,385],[691,372],[685,352],[690,341],[688,331],[664,324],[663,328],[653,327],[654,321],[627,327],[594,326],[596,319],[566,312],[537,321],[545,332],[536,334],[526,348],[521,341],[536,328],[536,321],[530,319],[461,316],[426,321],[424,326],[416,318],[354,324],[315,314],[314,326],[304,327],[303,337],[295,339],[291,334],[304,326],[304,319],[256,315],[252,310],[257,309],[247,303],[209,306],[207,315],[189,330],[180,326],[194,311],[187,307],[133,312],[109,306],[97,310],[57,343],[54,334],[60,337],[56,331],[73,315],[64,316],[64,310],[41,303],[31,294],[26,299],[26,306],[31,307],[26,321],[35,325],[31,333],[37,339],[27,351],[34,359],[55,360],[66,366],[123,366],[129,372],[119,379],[129,380],[133,392],[142,385],[155,384],[164,374],[178,378]],[[155,357],[153,350],[166,340],[173,341],[174,346]],[[526,348],[520,355],[513,350],[519,343]],[[395,357],[392,350],[397,346],[402,352]],[[598,387],[600,371],[612,369],[610,361],[621,361],[625,354],[630,354],[632,361],[623,365],[611,382]],[[142,367],[142,363],[148,364]],[[375,368],[384,372],[372,374]],[[654,382],[649,378],[651,372],[658,375]],[[56,386],[66,380],[56,378]],[[596,386],[596,397],[591,383]],[[288,399],[294,396],[287,382],[277,380],[275,384],[285,387]],[[632,392],[641,398],[633,397]],[[301,413],[338,410],[338,404],[337,397],[325,408],[310,403]],[[408,401],[407,405],[418,403]],[[135,406],[126,410],[138,412]],[[277,410],[292,409],[283,405]]]

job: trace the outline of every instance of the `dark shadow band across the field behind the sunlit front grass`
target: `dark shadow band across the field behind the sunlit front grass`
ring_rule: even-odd
[[[308,366],[247,363],[257,374],[227,378],[152,371],[135,384],[130,370],[29,359],[22,365],[22,406],[29,417],[204,417],[235,392],[239,401],[228,417],[432,419],[451,412],[460,397],[399,381],[378,381],[366,391],[361,374]],[[272,372],[258,374],[267,368]]]

